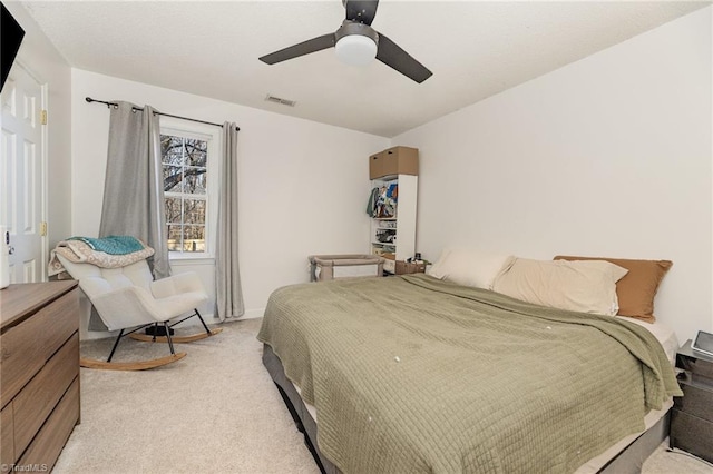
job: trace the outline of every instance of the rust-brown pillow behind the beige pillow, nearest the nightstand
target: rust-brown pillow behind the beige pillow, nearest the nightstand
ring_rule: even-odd
[[[626,268],[628,273],[616,283],[619,316],[628,316],[648,323],[654,317],[654,296],[661,280],[673,265],[671,260],[631,260],[625,258],[573,257],[558,255],[555,260],[606,260]]]

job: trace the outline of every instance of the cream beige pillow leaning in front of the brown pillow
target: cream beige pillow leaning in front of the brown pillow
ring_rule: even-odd
[[[536,305],[614,316],[618,310],[616,282],[626,273],[604,260],[516,258],[492,289]]]

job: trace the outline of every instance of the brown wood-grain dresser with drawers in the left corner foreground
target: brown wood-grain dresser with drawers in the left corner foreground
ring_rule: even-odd
[[[79,423],[77,282],[0,290],[0,464],[49,471]]]

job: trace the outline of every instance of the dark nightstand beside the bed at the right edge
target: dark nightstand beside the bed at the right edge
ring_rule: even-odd
[[[678,349],[676,367],[682,397],[674,397],[671,412],[671,447],[713,462],[713,357],[691,348]]]

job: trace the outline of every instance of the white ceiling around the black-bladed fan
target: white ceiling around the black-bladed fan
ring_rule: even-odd
[[[372,27],[433,72],[419,85],[379,61],[345,66],[333,49],[257,60],[335,31],[340,0],[21,3],[72,67],[383,137],[711,4],[382,0]]]

